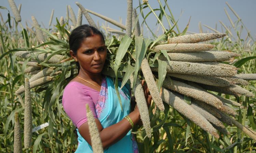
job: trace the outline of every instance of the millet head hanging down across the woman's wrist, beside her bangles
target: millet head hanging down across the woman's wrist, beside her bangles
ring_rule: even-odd
[[[133,75],[130,76],[130,82],[131,85],[133,84]],[[148,138],[151,138],[151,126],[150,126],[150,117],[148,113],[148,108],[147,108],[147,102],[146,98],[144,95],[143,87],[141,85],[140,79],[137,77],[136,83],[133,90],[134,97],[136,99],[137,107],[140,112],[140,118],[143,123],[143,127],[145,128],[146,135]]]

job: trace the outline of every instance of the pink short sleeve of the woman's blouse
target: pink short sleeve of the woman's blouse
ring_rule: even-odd
[[[77,128],[87,121],[85,104],[89,105],[94,118],[98,118],[95,112],[95,104],[87,91],[81,89],[75,82],[69,83],[63,91],[62,105]]]

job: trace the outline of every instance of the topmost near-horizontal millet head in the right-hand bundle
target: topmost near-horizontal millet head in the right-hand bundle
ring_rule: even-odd
[[[168,44],[198,43],[198,42],[212,40],[216,38],[222,38],[226,35],[227,34],[225,33],[199,33],[199,34],[177,36],[177,37],[168,39]]]

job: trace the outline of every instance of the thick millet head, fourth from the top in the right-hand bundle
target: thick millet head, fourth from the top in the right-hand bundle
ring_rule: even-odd
[[[215,77],[232,77],[237,73],[237,70],[230,67],[222,67],[193,62],[176,62],[172,61],[171,65],[167,63],[167,73],[181,73],[203,76],[215,76]],[[158,68],[151,68],[152,71],[157,72]]]

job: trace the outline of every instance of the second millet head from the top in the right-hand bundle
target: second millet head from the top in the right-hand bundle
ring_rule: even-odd
[[[196,52],[211,50],[213,47],[210,44],[163,44],[155,46],[153,50],[157,53],[161,52],[160,50],[167,50],[167,52]]]

